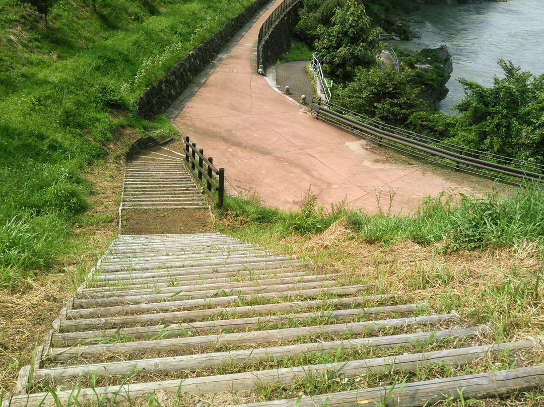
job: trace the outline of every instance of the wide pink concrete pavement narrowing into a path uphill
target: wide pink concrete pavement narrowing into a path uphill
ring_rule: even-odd
[[[393,162],[366,141],[316,120],[251,72],[259,28],[280,2],[249,29],[174,121],[225,168],[227,182],[238,193],[257,193],[265,204],[285,209],[296,208],[310,185],[319,204],[347,198],[369,212],[377,209],[380,188],[385,209],[391,188],[398,188],[395,209],[410,208],[421,195],[467,192],[452,177],[406,159]]]

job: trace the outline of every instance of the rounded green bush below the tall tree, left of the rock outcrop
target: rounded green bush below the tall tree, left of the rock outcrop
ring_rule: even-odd
[[[361,70],[353,82],[335,90],[333,102],[369,118],[404,126],[414,112],[425,107],[416,83],[409,70]]]

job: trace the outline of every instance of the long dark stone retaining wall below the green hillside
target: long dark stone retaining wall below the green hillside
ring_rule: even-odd
[[[153,119],[170,107],[172,102],[187,88],[193,78],[211,63],[227,42],[236,34],[269,0],[255,0],[242,14],[232,18],[224,28],[201,42],[199,46],[166,72],[163,79],[141,95],[137,103],[139,118]],[[290,41],[290,40],[289,40]]]

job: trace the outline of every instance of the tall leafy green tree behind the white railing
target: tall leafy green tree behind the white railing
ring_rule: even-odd
[[[319,29],[314,43],[327,75],[348,82],[359,67],[376,65],[382,46],[380,32],[379,28],[370,28],[370,18],[360,0],[347,0],[336,9],[331,26]]]

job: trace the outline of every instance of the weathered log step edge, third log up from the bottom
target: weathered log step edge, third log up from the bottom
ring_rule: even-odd
[[[230,352],[203,353],[195,355],[156,357],[154,359],[129,360],[122,362],[95,363],[92,365],[61,366],[43,368],[34,372],[35,380],[65,379],[78,377],[81,374],[97,372],[103,375],[126,375],[132,369],[149,372],[168,372],[174,370],[191,370],[208,368],[219,365],[250,364],[263,360],[281,359],[287,356],[301,354],[325,353],[331,350],[393,348],[397,346],[412,347],[418,344],[429,344],[477,336],[486,327],[450,329],[443,331],[421,332],[419,334],[404,334],[358,338],[344,341],[312,342],[298,345],[276,346],[268,348],[252,348],[233,350]]]

